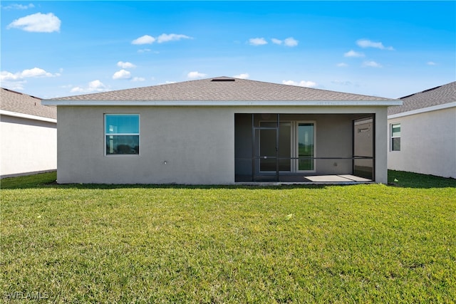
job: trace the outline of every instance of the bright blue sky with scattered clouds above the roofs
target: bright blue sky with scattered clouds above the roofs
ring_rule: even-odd
[[[456,80],[456,1],[1,1],[1,86],[216,76],[400,98]]]

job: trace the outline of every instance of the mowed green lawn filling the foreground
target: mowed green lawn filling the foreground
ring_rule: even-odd
[[[2,300],[454,303],[455,179],[394,179],[263,188],[3,179]]]

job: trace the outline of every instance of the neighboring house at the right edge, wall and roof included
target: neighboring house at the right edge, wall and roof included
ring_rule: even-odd
[[[388,108],[388,169],[456,178],[456,82]]]

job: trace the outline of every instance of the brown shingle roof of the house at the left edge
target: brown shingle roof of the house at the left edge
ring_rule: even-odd
[[[52,119],[57,118],[56,107],[41,105],[41,99],[31,95],[1,88],[0,100],[1,110]]]

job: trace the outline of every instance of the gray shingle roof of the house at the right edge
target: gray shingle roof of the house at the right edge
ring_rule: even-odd
[[[456,101],[456,81],[400,98],[403,105],[388,108],[388,115],[444,105]]]

